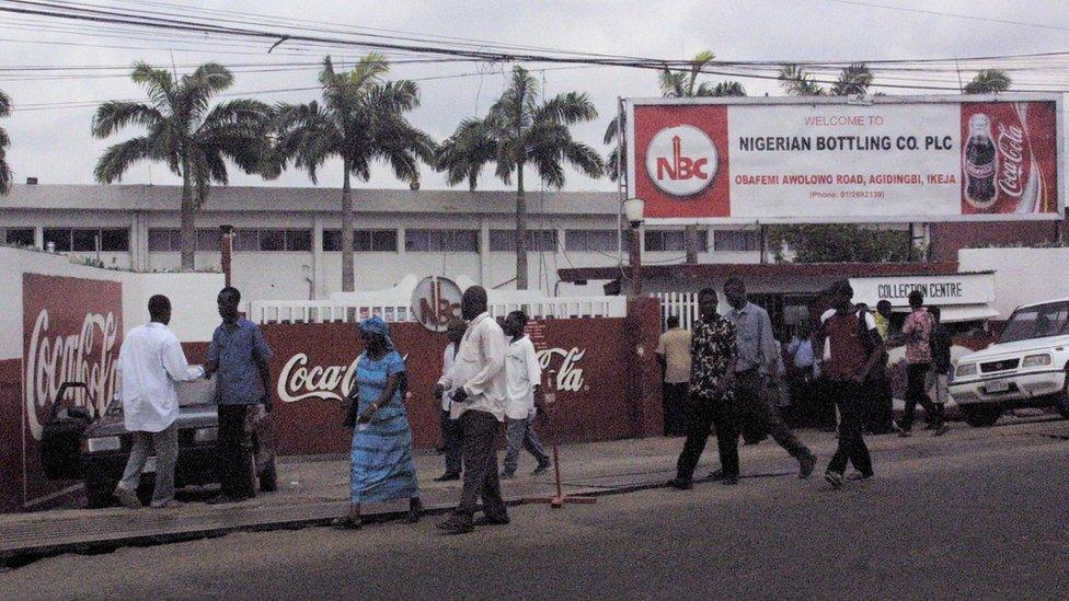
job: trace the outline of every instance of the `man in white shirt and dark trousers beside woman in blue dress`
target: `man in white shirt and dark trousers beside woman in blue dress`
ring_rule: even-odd
[[[450,534],[473,530],[476,500],[482,496],[485,517],[479,524],[506,524],[508,511],[497,476],[497,432],[505,420],[505,333],[486,312],[486,290],[464,291],[460,311],[468,331],[457,361],[435,386],[435,396],[452,392],[450,416],[463,432],[464,488],[456,512],[438,528]]]

